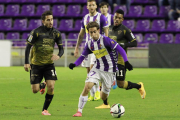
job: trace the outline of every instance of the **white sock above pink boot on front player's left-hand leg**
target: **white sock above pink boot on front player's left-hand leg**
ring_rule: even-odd
[[[88,96],[82,96],[79,97],[79,104],[78,104],[78,111],[82,113],[82,109],[84,108],[84,105],[86,104],[88,100]]]

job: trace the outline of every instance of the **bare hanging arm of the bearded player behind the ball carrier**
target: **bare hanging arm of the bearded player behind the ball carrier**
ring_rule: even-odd
[[[85,34],[85,29],[82,28],[82,29],[80,30],[80,32],[79,32],[78,39],[77,39],[77,43],[76,43],[76,47],[75,47],[75,50],[74,50],[74,56],[75,56],[75,57],[78,56],[79,46],[80,46],[80,44],[81,44],[82,41],[83,41],[84,34]]]

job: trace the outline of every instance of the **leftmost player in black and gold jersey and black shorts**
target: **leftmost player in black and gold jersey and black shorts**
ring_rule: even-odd
[[[32,30],[25,50],[25,71],[31,70],[30,82],[33,93],[39,90],[41,94],[45,92],[47,84],[47,93],[42,109],[42,115],[51,115],[47,109],[54,96],[54,84],[57,80],[54,67],[54,60],[58,60],[64,53],[61,33],[53,28],[53,15],[51,11],[46,11],[41,16],[43,25]],[[55,43],[58,45],[58,55],[53,54]],[[31,53],[31,66],[29,64],[29,53]],[[41,83],[43,77],[45,82]]]

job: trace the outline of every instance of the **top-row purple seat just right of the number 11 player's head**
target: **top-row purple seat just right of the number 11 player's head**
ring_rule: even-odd
[[[126,17],[140,17],[142,15],[142,6],[131,6],[129,10],[129,14]]]

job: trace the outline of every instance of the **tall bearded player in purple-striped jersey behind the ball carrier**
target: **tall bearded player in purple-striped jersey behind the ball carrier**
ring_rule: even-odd
[[[108,36],[109,25],[107,22],[107,18],[104,15],[102,15],[101,13],[96,11],[96,9],[97,9],[96,0],[87,0],[87,9],[89,10],[89,13],[86,14],[82,19],[81,30],[79,32],[75,51],[74,51],[75,57],[78,56],[79,46],[82,43],[84,34],[86,33],[86,42],[91,39],[91,36],[88,34],[88,31],[87,31],[87,24],[89,22],[92,22],[92,21],[97,22],[100,26],[100,33]],[[94,61],[95,61],[94,54],[90,54],[82,62],[82,66],[86,67],[86,69],[87,69],[87,74],[89,73],[90,69],[92,68]],[[96,91],[96,92],[91,92],[89,99],[90,100],[99,100],[100,99],[99,84],[95,85],[93,91]]]

